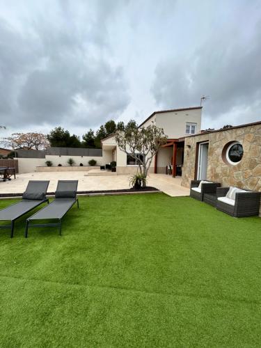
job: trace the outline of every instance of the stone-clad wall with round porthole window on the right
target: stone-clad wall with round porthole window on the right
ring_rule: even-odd
[[[208,180],[221,182],[223,187],[237,186],[261,191],[261,124],[186,138],[182,186],[189,187],[191,180],[195,178],[196,143],[202,141],[209,141]],[[242,161],[235,166],[226,164],[222,159],[223,148],[231,141],[239,141],[244,149]]]

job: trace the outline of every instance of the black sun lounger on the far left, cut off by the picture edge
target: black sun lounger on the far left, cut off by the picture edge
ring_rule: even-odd
[[[11,238],[14,234],[15,220],[42,203],[49,203],[49,200],[45,196],[48,185],[49,181],[47,180],[30,180],[24,191],[22,200],[0,210],[0,221],[11,221],[10,225],[0,225],[0,228],[10,228]]]

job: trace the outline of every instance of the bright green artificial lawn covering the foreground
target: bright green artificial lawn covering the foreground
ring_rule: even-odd
[[[163,193],[79,204],[62,237],[0,230],[0,347],[260,347],[260,218]]]

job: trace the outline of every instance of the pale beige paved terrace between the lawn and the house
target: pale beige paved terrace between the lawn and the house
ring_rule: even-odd
[[[29,180],[49,180],[48,191],[55,191],[58,180],[79,180],[78,191],[129,189],[129,175],[88,176],[85,172],[53,172],[18,174],[16,180],[0,182],[0,193],[22,193]],[[189,196],[189,189],[180,185],[181,178],[166,174],[150,174],[148,186],[169,196]]]

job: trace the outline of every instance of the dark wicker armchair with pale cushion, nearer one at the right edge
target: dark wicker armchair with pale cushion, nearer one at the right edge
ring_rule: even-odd
[[[217,198],[225,197],[228,190],[229,187],[218,187],[216,189]],[[235,217],[259,215],[261,192],[245,191],[248,192],[237,192],[235,194],[235,205],[216,200],[216,209]]]

